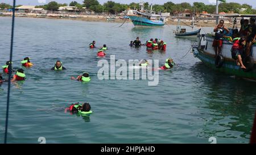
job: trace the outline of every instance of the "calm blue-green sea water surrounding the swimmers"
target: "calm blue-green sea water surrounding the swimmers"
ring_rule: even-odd
[[[131,23],[16,18],[14,68],[31,57],[27,79],[11,85],[8,143],[249,143],[256,108],[256,84],[214,72],[188,52],[195,39],[174,37],[175,26],[133,28]],[[189,28],[188,28],[189,29]],[[0,64],[9,60],[11,18],[0,18]],[[189,31],[189,30],[188,30]],[[211,32],[212,28],[204,28]],[[130,48],[131,40],[160,38],[167,51]],[[99,80],[96,46],[108,45],[106,60],[171,56],[177,66],[147,80]],[[60,59],[67,70],[50,68]],[[92,81],[72,81],[90,73]],[[4,75],[4,77],[6,77]],[[3,143],[7,83],[0,85],[0,143]],[[64,107],[89,102],[92,115],[65,114]]]

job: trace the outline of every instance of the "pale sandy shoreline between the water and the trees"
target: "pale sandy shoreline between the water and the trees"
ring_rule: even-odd
[[[15,13],[16,18],[44,18],[44,19],[58,19],[58,20],[68,19],[68,20],[81,20],[86,22],[111,22],[111,23],[129,22],[131,23],[130,19],[121,19],[119,17],[115,18],[114,20],[107,20],[106,19],[107,16],[104,16],[104,15],[66,15],[66,14],[47,14],[46,16],[38,16],[38,15],[33,13],[29,13],[26,15],[21,13]],[[11,17],[11,14],[1,14],[0,16]],[[183,19],[181,19],[181,21],[182,22],[180,22],[180,26],[188,26],[192,22],[192,20],[183,20]],[[168,20],[166,21],[166,25],[176,26],[177,19],[172,20],[171,18],[168,18]],[[225,22],[225,26],[227,27],[231,27],[232,25],[233,24]],[[207,21],[198,20],[198,22],[195,23],[195,27],[215,27],[215,26],[216,26],[216,21],[214,20],[207,20]]]

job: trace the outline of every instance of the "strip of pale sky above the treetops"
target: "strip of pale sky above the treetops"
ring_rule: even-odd
[[[56,1],[58,3],[70,3],[71,1],[74,0],[16,0],[16,4],[17,5],[44,5],[48,2],[51,1]],[[75,0],[79,3],[82,3],[83,0]],[[100,2],[101,4],[107,2],[109,0],[98,0],[98,2]],[[131,2],[139,2],[139,0],[112,0],[114,2],[118,2],[118,3],[131,3]],[[215,4],[216,0],[143,0],[144,2],[148,2],[148,3],[152,3],[154,4],[160,4],[163,5],[163,3],[166,2],[174,2],[174,3],[180,3],[180,2],[188,2],[188,3],[193,3],[193,2],[204,2],[205,4],[209,5],[209,4]],[[256,0],[226,0],[227,2],[236,2],[236,3],[247,3],[248,5],[253,6],[253,8],[256,8]],[[10,3],[10,5],[13,4],[13,0],[0,0],[0,3]]]

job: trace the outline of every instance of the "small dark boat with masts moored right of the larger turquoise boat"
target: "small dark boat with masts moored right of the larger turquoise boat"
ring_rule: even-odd
[[[201,31],[201,28],[199,30],[193,31],[193,27],[194,27],[194,17],[193,16],[192,16],[192,25],[190,27],[192,27],[192,31],[186,32],[185,28],[180,28],[180,19],[178,19],[178,25],[177,25],[177,28],[175,31],[175,36],[197,36],[197,33],[200,33],[200,31]]]

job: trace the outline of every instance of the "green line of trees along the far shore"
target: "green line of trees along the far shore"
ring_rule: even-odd
[[[59,9],[60,6],[68,6],[67,3],[57,3],[55,1],[49,2],[47,5],[36,6],[36,7],[43,7],[45,10],[52,10],[56,11]],[[72,1],[69,3],[69,6],[76,6],[77,9],[83,10],[83,7],[86,9],[93,10],[95,12],[109,12],[111,14],[117,14],[127,9],[139,9],[139,3],[130,3],[130,4],[121,4],[115,3],[114,1],[108,1],[101,5],[97,0],[84,0],[82,4]],[[144,3],[144,9],[150,10],[151,5],[146,2]],[[11,6],[7,5],[6,3],[0,3],[1,9],[10,9]],[[256,14],[256,9],[253,9],[250,4],[243,4],[240,3],[220,3],[219,6],[220,12],[234,12],[238,14]],[[244,8],[244,9],[243,9]],[[194,2],[193,5],[187,2],[183,3],[173,3],[173,2],[166,2],[163,5],[153,5],[152,10],[156,12],[170,12],[171,14],[177,14],[183,11],[189,11],[191,13],[201,13],[203,11],[208,12],[209,14],[216,13],[216,6],[215,5],[205,5],[202,2]]]

